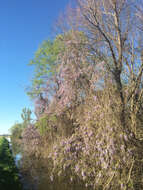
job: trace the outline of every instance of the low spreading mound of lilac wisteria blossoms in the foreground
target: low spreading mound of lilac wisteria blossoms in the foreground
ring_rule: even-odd
[[[93,98],[95,99],[95,97]],[[90,115],[82,115],[82,119],[79,121],[81,122],[80,128],[70,138],[64,139],[59,145],[54,146],[53,152],[50,154],[54,163],[53,170],[55,169],[57,172],[57,168],[66,170],[70,167],[72,172],[86,181],[87,185],[97,189],[101,184],[106,185],[114,174],[114,183],[116,184],[114,184],[114,188],[120,188],[119,180],[122,180],[124,184],[127,183],[125,173],[129,171],[134,160],[133,146],[126,134],[123,134],[119,121],[109,122],[110,115],[106,116],[106,120],[100,120],[99,114],[103,114],[104,111],[107,114],[110,107],[104,105],[105,110],[103,107],[98,107],[98,110],[92,111],[94,106],[97,106],[97,103],[93,102],[88,108]],[[101,112],[100,109],[102,109]],[[114,113],[112,116],[114,117]],[[119,170],[125,171],[121,175]]]

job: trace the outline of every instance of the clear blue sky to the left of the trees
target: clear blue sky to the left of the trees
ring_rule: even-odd
[[[0,5],[0,134],[33,109],[25,93],[33,70],[28,66],[69,0],[3,0]]]

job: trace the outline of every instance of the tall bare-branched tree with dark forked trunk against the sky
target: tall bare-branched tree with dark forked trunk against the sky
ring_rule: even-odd
[[[96,55],[102,56],[102,59],[104,57],[105,67],[115,81],[121,99],[121,121],[124,130],[132,130],[136,133],[134,117],[140,109],[138,103],[142,99],[140,86],[143,71],[143,50],[140,46],[142,33],[137,27],[137,9],[134,8],[135,5],[138,6],[138,1],[79,0],[78,3],[81,27],[86,29],[88,38],[91,40],[90,45]],[[123,79],[125,78],[128,94],[124,93]],[[135,99],[137,92],[138,100]],[[125,110],[129,102],[132,117],[130,129],[125,123]]]

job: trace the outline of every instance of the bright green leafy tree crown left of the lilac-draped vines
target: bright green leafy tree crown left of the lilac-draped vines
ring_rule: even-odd
[[[57,56],[63,49],[62,35],[58,35],[55,40],[44,41],[35,53],[34,59],[30,61],[29,65],[34,66],[34,76],[27,94],[32,99],[43,95],[47,80],[52,81],[58,69]]]

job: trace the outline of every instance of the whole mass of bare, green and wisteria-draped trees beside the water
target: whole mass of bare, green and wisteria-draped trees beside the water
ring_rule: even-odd
[[[138,1],[78,0],[74,16],[68,13],[70,30],[37,51],[31,63],[37,121],[22,133],[23,169],[31,179],[42,183],[47,176],[53,189],[59,183],[65,190],[143,189],[137,7]]]

